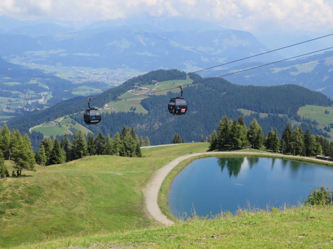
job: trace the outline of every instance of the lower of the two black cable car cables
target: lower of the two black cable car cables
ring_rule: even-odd
[[[225,77],[225,76],[232,75],[232,74],[235,74],[235,73],[241,73],[241,72],[244,72],[244,71],[247,71],[247,70],[251,70],[251,69],[255,69],[255,68],[258,68],[258,67],[268,66],[268,65],[271,65],[271,64],[274,64],[274,63],[278,63],[278,62],[282,62],[282,61],[294,59],[294,58],[297,58],[297,57],[301,57],[301,56],[312,54],[312,53],[316,53],[316,52],[321,52],[321,51],[324,51],[324,50],[327,50],[327,49],[331,49],[331,48],[333,48],[333,47],[328,47],[328,48],[320,49],[320,50],[317,50],[317,51],[314,51],[314,52],[310,52],[310,53],[306,53],[306,54],[301,54],[301,55],[298,55],[298,56],[294,56],[294,57],[291,57],[291,58],[287,58],[287,59],[283,59],[283,60],[279,60],[279,61],[267,63],[267,64],[256,66],[256,67],[251,67],[251,68],[243,69],[243,70],[240,70],[240,71],[237,71],[237,72],[233,72],[233,73],[229,73],[229,74],[224,74],[224,75],[217,76],[217,77],[214,77],[214,78],[209,78],[209,79],[206,79],[206,80],[201,80],[201,81],[190,83],[190,84],[185,84],[184,86],[199,84],[201,82],[205,82],[205,81],[208,81],[208,80],[213,80],[213,79]],[[163,92],[163,91],[168,91],[168,90],[172,90],[172,89],[176,89],[176,88],[179,88],[179,87],[173,87],[173,88],[170,88],[170,89],[160,90],[160,91],[156,91],[155,93]],[[147,94],[149,94],[149,93],[139,94],[139,95],[136,95],[136,96],[133,96],[133,97],[143,96],[143,95],[147,95]],[[123,99],[128,99],[128,98],[133,98],[133,97],[126,97],[126,98],[117,99],[117,100],[123,100]],[[80,102],[83,102],[83,101],[80,101]],[[75,103],[80,103],[80,102],[75,102]],[[104,103],[108,103],[108,102],[111,102],[111,101],[104,101],[104,102],[96,103],[95,105],[104,104]],[[72,104],[75,104],[75,103],[72,103]],[[77,109],[77,108],[82,108],[82,107],[85,107],[85,106],[74,107],[74,108],[69,108],[69,109],[64,109],[64,110],[59,110],[59,111],[41,113],[41,114],[35,114],[35,115],[30,115],[30,116],[24,116],[24,117],[15,118],[15,119],[29,118],[29,117],[34,117],[34,116],[44,115],[44,114],[49,114],[49,113],[55,113],[55,112],[63,112],[63,111]],[[50,109],[50,108],[47,108],[47,109]],[[46,110],[46,109],[44,109],[44,110]],[[38,110],[38,111],[40,111],[40,110]],[[23,114],[26,114],[26,113],[20,113],[20,114],[23,115]],[[18,114],[15,114],[15,115],[18,115]],[[14,115],[9,115],[9,116],[14,116]],[[7,117],[7,116],[4,116],[4,117]],[[0,118],[0,121],[9,121],[9,120],[15,120],[15,119],[1,120],[1,118]]]

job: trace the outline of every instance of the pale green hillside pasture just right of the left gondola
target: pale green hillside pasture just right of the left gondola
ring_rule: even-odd
[[[134,111],[135,113],[144,113],[147,114],[148,111],[141,105],[142,99],[145,98],[145,96],[138,96],[138,99],[129,99],[128,101],[122,100],[122,101],[111,101],[108,103],[108,107],[116,107],[116,109],[105,109],[105,110],[100,110],[101,113],[103,112],[132,112],[134,108],[136,110]],[[131,108],[133,109],[131,110]]]

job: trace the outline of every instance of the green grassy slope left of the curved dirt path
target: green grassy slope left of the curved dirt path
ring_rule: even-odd
[[[123,229],[125,223],[146,227],[151,221],[142,211],[139,188],[149,179],[153,160],[157,170],[178,157],[179,151],[204,152],[207,147],[206,143],[189,143],[144,148],[143,158],[90,156],[63,165],[38,166],[36,173],[24,171],[21,178],[1,179],[0,187],[6,190],[0,192],[0,203],[12,201],[14,192],[20,195],[32,184],[43,186],[46,193],[35,204],[23,204],[0,216],[0,246],[102,229],[112,232]]]

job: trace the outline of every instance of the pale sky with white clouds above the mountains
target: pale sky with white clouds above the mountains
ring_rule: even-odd
[[[251,33],[327,33],[333,0],[0,0],[0,15],[19,20],[87,22],[150,15],[213,22]]]

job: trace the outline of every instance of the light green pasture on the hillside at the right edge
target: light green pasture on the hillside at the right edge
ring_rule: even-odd
[[[329,114],[325,114],[325,110],[329,111]],[[299,108],[297,114],[304,117],[304,119],[315,119],[323,125],[332,124],[333,122],[333,109],[329,109],[329,107],[306,105]]]

